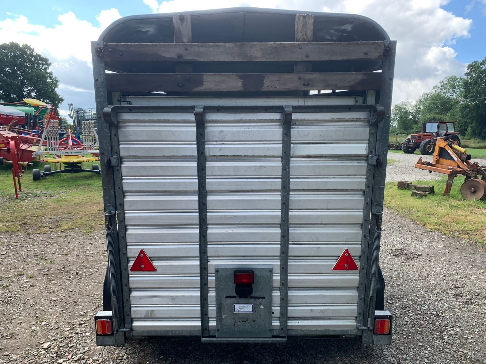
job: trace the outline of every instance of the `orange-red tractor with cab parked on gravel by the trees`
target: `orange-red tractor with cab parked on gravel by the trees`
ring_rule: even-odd
[[[437,121],[422,124],[422,133],[410,134],[401,144],[404,153],[414,153],[417,149],[421,154],[434,153],[437,137],[448,136],[454,144],[460,146],[459,133],[455,131],[454,123]]]

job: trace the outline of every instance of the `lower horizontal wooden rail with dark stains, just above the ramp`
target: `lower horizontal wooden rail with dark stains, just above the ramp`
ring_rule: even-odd
[[[108,91],[379,90],[380,72],[107,73]]]

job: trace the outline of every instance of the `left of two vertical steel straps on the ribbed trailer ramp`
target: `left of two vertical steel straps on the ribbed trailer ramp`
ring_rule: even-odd
[[[208,210],[206,206],[206,136],[204,107],[194,109],[196,120],[197,196],[199,201],[199,284],[201,300],[201,337],[209,336],[208,306]]]

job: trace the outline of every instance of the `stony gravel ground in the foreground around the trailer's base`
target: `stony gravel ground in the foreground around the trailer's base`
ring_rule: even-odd
[[[410,238],[410,232],[413,237]],[[102,232],[0,236],[0,363],[486,363],[486,254],[386,212],[381,266],[393,344],[129,341],[97,347],[106,266]]]

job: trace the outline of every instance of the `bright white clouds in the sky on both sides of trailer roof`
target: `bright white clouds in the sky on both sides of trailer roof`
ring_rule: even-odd
[[[465,64],[456,60],[455,41],[469,37],[472,21],[441,8],[449,0],[143,0],[154,13],[258,6],[302,11],[360,14],[376,20],[398,41],[394,102],[416,99],[442,78],[462,75]],[[484,5],[486,0],[473,0]],[[0,21],[2,42],[27,43],[50,58],[62,83],[61,94],[75,106],[93,106],[90,41],[120,18],[117,9],[102,10],[99,24],[78,19],[72,12],[58,17],[52,27],[35,24],[24,16],[8,14]],[[64,90],[64,91],[63,91]],[[78,91],[90,90],[91,93]],[[65,94],[64,94],[64,93]],[[89,96],[89,97],[87,97]],[[77,99],[77,100],[76,100]]]

